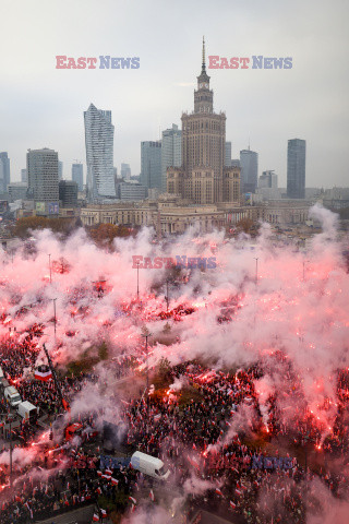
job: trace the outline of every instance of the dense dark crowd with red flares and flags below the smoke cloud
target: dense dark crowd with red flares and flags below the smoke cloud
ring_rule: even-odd
[[[4,341],[0,348],[1,367],[9,379],[16,381],[23,400],[55,419],[62,412],[56,385],[52,381],[35,381],[33,373],[27,372],[34,368],[38,355],[37,335],[39,327],[36,326],[21,343],[11,338]],[[129,376],[135,364],[134,358],[115,360],[116,377]],[[265,420],[255,389],[261,377],[263,370],[258,366],[224,373],[197,362],[186,362],[169,371],[168,381],[173,382],[172,388],[155,390],[141,400],[130,398],[122,404],[122,418],[128,427],[124,444],[129,450],[137,449],[160,457],[170,468],[170,483],[181,487],[185,500],[181,509],[183,514],[192,514],[195,508],[207,508],[222,516],[240,515],[249,524],[301,524],[305,523],[306,512],[322,511],[323,501],[314,489],[316,478],[328,488],[330,497],[341,499],[347,491],[346,475],[328,467],[321,467],[316,473],[310,468],[305,471],[304,464],[299,464],[294,456],[289,456],[290,467],[282,467],[281,463],[278,467],[263,465],[260,457],[266,457],[265,443],[272,438],[289,437],[293,450],[314,449],[321,431],[312,425],[311,418],[306,418],[302,407],[300,414],[303,416],[296,427],[289,428],[278,416],[273,395],[268,398]],[[288,379],[292,380],[291,370],[288,370]],[[96,374],[80,373],[59,378],[59,384],[63,396],[70,401],[88,382],[97,380]],[[296,397],[299,384],[297,381],[294,384]],[[348,377],[342,373],[338,379],[338,415],[334,431],[322,442],[324,455],[342,458],[348,451],[347,386]],[[183,391],[189,391],[185,402],[181,402]],[[2,404],[3,409],[9,410],[3,398]],[[248,428],[236,425],[241,409],[249,409]],[[79,421],[83,429],[94,426],[93,415],[85,418],[82,415]],[[306,432],[304,428],[309,428]],[[40,432],[39,428],[36,430]],[[34,445],[35,431],[31,432],[27,422],[23,422],[21,433],[24,443],[31,440]],[[249,441],[251,434],[262,436],[262,441]],[[67,436],[63,439],[67,440]],[[0,464],[0,524],[33,522],[55,512],[97,502],[100,497],[123,512],[134,508],[136,493],[143,497],[146,483],[137,472],[121,467],[105,474],[98,469],[100,450],[92,453],[84,449],[82,439],[65,440],[56,450],[49,443],[40,458],[37,455],[24,467],[15,464],[13,490],[9,487],[9,465]],[[275,454],[281,456],[277,449]],[[205,488],[190,489],[193,484],[203,481]]]

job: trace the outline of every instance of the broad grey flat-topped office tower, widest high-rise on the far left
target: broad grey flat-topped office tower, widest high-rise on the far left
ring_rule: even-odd
[[[28,150],[28,198],[36,204],[38,214],[58,214],[58,153],[45,147]]]

